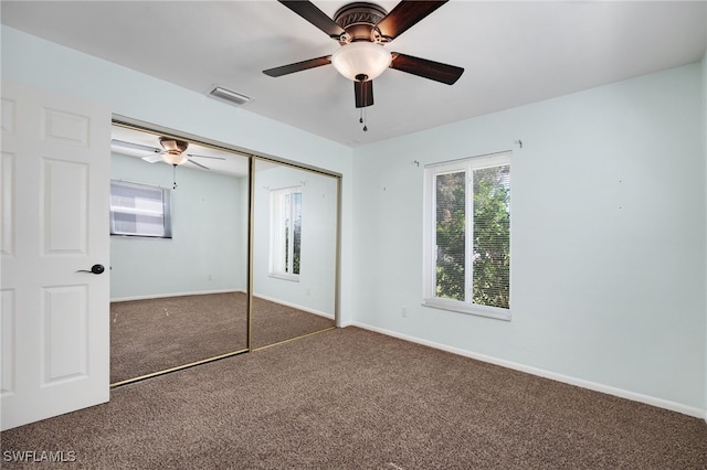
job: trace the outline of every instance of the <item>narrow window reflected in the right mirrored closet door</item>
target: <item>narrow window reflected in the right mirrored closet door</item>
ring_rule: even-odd
[[[302,191],[299,186],[273,190],[271,203],[271,275],[299,278]]]

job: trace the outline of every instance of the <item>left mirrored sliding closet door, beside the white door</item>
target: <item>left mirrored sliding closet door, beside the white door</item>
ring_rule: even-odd
[[[110,383],[247,350],[249,158],[112,138]]]

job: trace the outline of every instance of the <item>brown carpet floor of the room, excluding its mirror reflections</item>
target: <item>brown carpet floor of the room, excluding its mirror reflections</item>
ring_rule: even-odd
[[[707,468],[701,419],[352,327],[0,438],[3,455],[73,451],[86,469]],[[51,466],[3,462],[23,467]]]

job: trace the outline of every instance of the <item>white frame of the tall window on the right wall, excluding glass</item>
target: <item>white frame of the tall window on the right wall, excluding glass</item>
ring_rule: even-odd
[[[494,318],[498,320],[509,321],[511,319],[513,303],[509,302],[509,308],[489,307],[473,303],[468,300],[454,300],[435,296],[436,290],[436,185],[435,178],[439,174],[449,174],[454,172],[465,172],[466,196],[465,196],[465,214],[473,214],[473,172],[484,168],[503,167],[511,164],[511,151],[504,151],[498,153],[489,153],[477,157],[469,157],[461,160],[452,160],[439,163],[428,164],[424,168],[424,212],[423,212],[423,295],[422,305],[424,307],[431,307],[442,310],[449,310],[454,312],[474,314],[486,318]],[[509,174],[509,181],[513,178],[513,169]],[[513,213],[513,183],[510,182],[510,201],[509,213]],[[473,234],[473,216],[466,216],[465,218],[465,233]],[[465,247],[466,266],[473,266],[473,246],[469,241],[473,237],[467,236]],[[513,246],[513,217],[510,217],[510,245]],[[509,249],[511,248],[509,246]],[[513,255],[511,255],[513,259]],[[513,269],[513,264],[509,266],[509,270]],[[509,273],[508,288],[509,296],[513,298],[511,277]],[[465,281],[465,290],[471,287],[469,282]],[[471,276],[471,284],[473,285],[473,273]],[[468,297],[467,297],[468,298]]]

